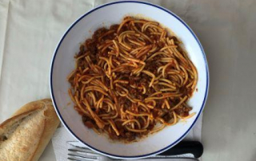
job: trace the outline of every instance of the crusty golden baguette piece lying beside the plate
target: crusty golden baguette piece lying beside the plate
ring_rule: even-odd
[[[36,161],[58,127],[50,99],[24,105],[0,124],[0,161]]]

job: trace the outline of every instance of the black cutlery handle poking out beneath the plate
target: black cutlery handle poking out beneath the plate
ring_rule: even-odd
[[[188,153],[193,154],[194,158],[200,158],[203,153],[202,143],[198,141],[182,141],[159,155],[184,155]]]

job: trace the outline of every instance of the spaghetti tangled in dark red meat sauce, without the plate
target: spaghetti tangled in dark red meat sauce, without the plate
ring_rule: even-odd
[[[68,76],[86,127],[134,141],[194,116],[186,101],[198,73],[180,43],[158,22],[132,17],[96,30]]]

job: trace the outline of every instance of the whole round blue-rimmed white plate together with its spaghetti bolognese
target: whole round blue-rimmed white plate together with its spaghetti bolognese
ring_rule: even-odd
[[[181,141],[209,88],[198,37],[170,10],[112,2],[78,18],[59,41],[50,93],[81,143],[122,159],[157,155]]]

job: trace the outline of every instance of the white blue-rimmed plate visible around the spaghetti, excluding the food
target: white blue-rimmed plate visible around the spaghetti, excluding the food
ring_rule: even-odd
[[[68,95],[70,84],[67,75],[74,69],[74,53],[79,45],[92,36],[102,26],[118,24],[127,15],[137,15],[160,22],[177,35],[183,42],[191,61],[198,69],[198,92],[189,100],[196,116],[186,123],[164,128],[161,132],[149,135],[138,143],[119,143],[108,139],[106,135],[97,135],[82,124],[82,117],[73,108]],[[54,107],[62,124],[80,142],[102,155],[115,158],[138,159],[166,151],[181,141],[193,127],[206,103],[209,87],[209,72],[205,53],[193,31],[181,18],[169,10],[147,2],[112,2],[90,10],[67,29],[55,50],[50,68],[50,92]],[[70,104],[70,105],[68,105]]]

